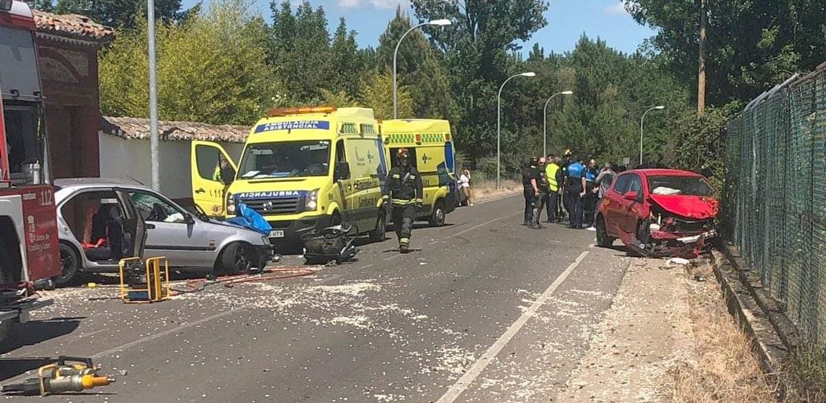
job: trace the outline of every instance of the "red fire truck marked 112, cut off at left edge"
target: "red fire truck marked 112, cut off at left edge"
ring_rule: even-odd
[[[26,2],[0,0],[0,340],[61,268],[35,31]]]

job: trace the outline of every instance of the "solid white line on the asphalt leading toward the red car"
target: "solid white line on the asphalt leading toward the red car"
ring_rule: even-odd
[[[494,358],[496,358],[496,356],[502,351],[502,348],[505,348],[510,340],[513,339],[514,336],[520,332],[520,330],[522,330],[522,327],[525,326],[525,324],[528,323],[528,320],[536,314],[536,311],[539,311],[539,307],[543,306],[545,302],[548,301],[551,294],[557,290],[559,285],[565,281],[568,275],[570,275],[573,270],[577,268],[577,266],[579,266],[579,263],[582,263],[582,259],[584,259],[589,253],[591,253],[591,250],[585,250],[582,254],[579,254],[573,263],[571,263],[571,265],[569,265],[556,280],[553,280],[548,289],[545,290],[545,292],[543,292],[542,295],[539,296],[539,298],[534,301],[534,303],[531,304],[531,306],[508,327],[508,330],[506,330],[505,333],[499,337],[499,339],[496,339],[496,343],[491,345],[491,347],[488,348],[484,354],[482,354],[482,358],[479,358],[476,363],[473,363],[473,366],[470,367],[468,372],[465,372],[464,375],[453,384],[453,386],[450,386],[450,389],[448,389],[448,391],[444,393],[444,396],[440,397],[439,401],[436,403],[453,403],[453,401],[456,401],[459,396],[462,396],[462,393],[468,390],[468,387],[474,380],[476,380],[477,377],[479,377],[479,375],[482,374],[487,365],[490,364]]]

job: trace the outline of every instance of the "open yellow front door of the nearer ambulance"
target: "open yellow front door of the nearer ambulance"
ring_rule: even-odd
[[[225,195],[238,168],[226,150],[210,141],[192,141],[192,200],[209,216],[224,216]],[[224,159],[227,166],[222,166]]]

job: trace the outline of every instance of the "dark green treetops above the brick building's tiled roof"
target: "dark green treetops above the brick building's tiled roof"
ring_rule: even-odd
[[[52,0],[39,0],[38,8],[49,10]],[[107,26],[132,29],[135,18],[146,15],[144,0],[56,0],[52,9],[59,14],[82,14]],[[154,0],[155,17],[170,23],[184,17],[181,0]]]

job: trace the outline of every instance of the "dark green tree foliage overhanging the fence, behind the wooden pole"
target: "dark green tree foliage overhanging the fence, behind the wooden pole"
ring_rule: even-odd
[[[697,88],[700,0],[632,0],[629,12],[657,28],[650,40],[668,69]],[[756,97],[800,70],[812,70],[826,54],[826,7],[811,0],[706,0],[707,101]]]

